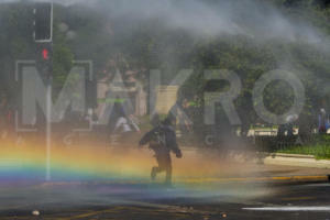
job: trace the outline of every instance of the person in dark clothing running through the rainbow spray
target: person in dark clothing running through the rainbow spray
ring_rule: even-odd
[[[150,148],[155,152],[158,166],[154,166],[151,178],[154,180],[156,175],[166,172],[165,184],[172,184],[172,160],[170,152],[182,158],[183,154],[176,142],[176,134],[172,127],[173,119],[165,119],[160,125],[147,132],[140,141],[140,146],[150,144]]]

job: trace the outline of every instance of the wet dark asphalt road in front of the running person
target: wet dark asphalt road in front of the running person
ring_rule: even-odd
[[[219,185],[207,193],[187,187],[73,184],[6,186],[0,193],[0,219],[330,219],[328,183]],[[33,210],[40,216],[33,216]]]

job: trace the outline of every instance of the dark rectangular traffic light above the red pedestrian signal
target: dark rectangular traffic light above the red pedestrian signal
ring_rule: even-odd
[[[35,3],[34,7],[34,41],[38,43],[53,40],[53,3]]]

